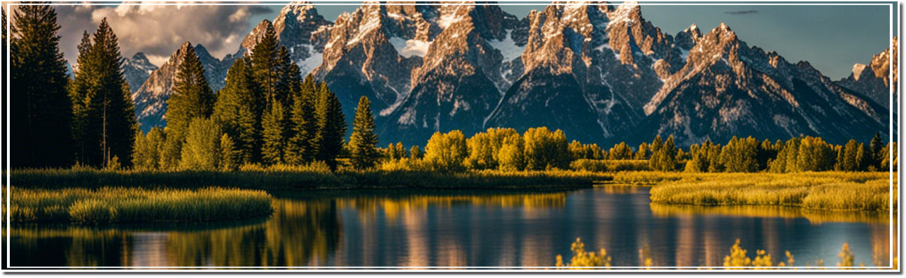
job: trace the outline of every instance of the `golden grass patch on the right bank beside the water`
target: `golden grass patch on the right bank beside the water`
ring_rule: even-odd
[[[625,173],[635,177],[638,173]],[[888,172],[661,174],[651,202],[688,205],[780,205],[819,210],[890,211]],[[622,180],[618,173],[614,180]],[[896,178],[894,178],[894,184]],[[893,192],[896,196],[896,188]]]

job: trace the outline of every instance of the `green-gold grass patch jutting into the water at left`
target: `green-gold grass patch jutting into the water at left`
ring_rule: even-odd
[[[272,211],[270,195],[260,190],[12,190],[14,222],[200,222],[262,217]]]

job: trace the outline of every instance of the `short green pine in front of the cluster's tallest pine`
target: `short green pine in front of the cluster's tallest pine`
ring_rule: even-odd
[[[284,134],[284,108],[275,102],[270,111],[261,120],[263,144],[261,145],[262,162],[279,164],[284,162],[286,135]]]

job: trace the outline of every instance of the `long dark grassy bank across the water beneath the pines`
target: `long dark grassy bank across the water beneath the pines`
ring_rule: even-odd
[[[338,171],[318,167],[244,167],[239,171],[107,171],[31,169],[12,171],[20,188],[222,186],[255,190],[582,188],[612,179],[594,171]]]

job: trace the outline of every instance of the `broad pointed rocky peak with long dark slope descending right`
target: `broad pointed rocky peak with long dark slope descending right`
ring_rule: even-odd
[[[886,130],[886,109],[840,88],[808,62],[748,47],[721,23],[644,107],[638,139],[674,134],[677,144],[731,136],[819,135],[835,144]]]

